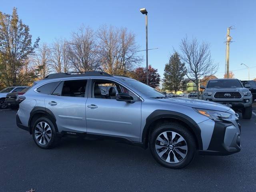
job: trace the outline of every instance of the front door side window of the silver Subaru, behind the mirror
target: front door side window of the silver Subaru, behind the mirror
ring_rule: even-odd
[[[109,80],[96,80],[93,84],[93,98],[116,99],[116,94],[128,93],[133,100],[140,100],[133,92],[124,86]]]

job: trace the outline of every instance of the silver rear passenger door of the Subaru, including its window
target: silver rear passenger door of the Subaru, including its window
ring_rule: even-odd
[[[44,103],[56,118],[60,132],[86,132],[87,79],[61,81]]]

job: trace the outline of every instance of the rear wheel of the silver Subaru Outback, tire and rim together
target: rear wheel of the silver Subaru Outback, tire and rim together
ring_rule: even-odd
[[[32,136],[36,145],[43,149],[53,148],[60,143],[54,124],[47,117],[38,118],[32,127]]]

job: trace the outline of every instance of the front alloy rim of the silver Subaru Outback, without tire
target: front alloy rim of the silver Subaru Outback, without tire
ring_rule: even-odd
[[[186,140],[174,131],[162,132],[155,142],[158,156],[168,163],[179,163],[188,153]]]

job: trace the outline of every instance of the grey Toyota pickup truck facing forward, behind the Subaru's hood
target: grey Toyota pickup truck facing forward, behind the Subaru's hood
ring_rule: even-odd
[[[206,84],[202,99],[218,102],[231,107],[237,112],[242,112],[242,118],[252,117],[252,93],[248,90],[250,85],[238,79],[212,79]]]

